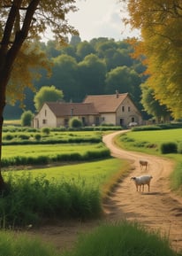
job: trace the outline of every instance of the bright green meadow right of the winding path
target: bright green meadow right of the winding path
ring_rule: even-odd
[[[130,131],[116,136],[115,143],[129,151],[142,151],[172,159],[176,162],[171,174],[171,189],[182,196],[182,154],[180,152],[163,154],[161,145],[166,143],[177,144],[181,149],[182,128],[151,131]]]

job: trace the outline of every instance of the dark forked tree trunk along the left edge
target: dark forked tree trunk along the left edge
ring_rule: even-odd
[[[19,22],[19,10],[22,0],[14,0],[11,2],[10,12],[5,23],[4,35],[0,42],[0,190],[4,190],[4,179],[2,176],[2,133],[3,133],[3,114],[6,104],[6,88],[10,80],[11,69],[15,59],[19,53],[22,44],[27,39],[27,34],[34,17],[34,12],[40,0],[31,0],[23,21],[23,25],[16,27],[15,23]],[[20,23],[19,23],[20,25]],[[14,29],[16,28],[16,31]],[[11,42],[11,35],[15,32],[14,40]]]

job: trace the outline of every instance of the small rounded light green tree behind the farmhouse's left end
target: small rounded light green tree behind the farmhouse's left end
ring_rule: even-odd
[[[37,111],[40,111],[44,102],[61,101],[63,97],[63,91],[56,89],[54,85],[42,86],[34,96],[34,106]]]

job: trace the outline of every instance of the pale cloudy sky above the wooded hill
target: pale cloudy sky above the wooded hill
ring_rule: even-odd
[[[81,41],[98,37],[119,41],[139,35],[125,27],[122,18],[126,13],[121,12],[118,0],[77,0],[75,5],[79,11],[70,12],[66,17],[69,24],[79,30]]]

